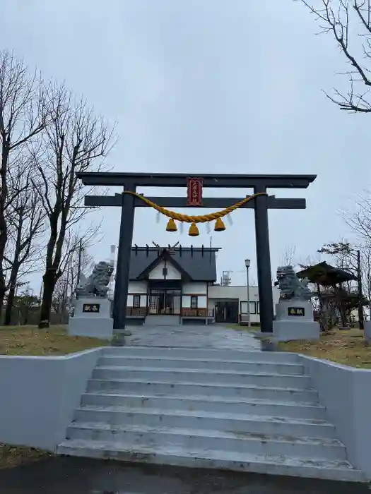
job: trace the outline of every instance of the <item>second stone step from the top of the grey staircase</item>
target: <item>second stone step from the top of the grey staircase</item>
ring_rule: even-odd
[[[232,370],[239,372],[257,372],[269,374],[295,374],[304,373],[304,366],[299,363],[259,362],[259,361],[220,361],[218,359],[186,359],[167,356],[102,356],[98,360],[98,366],[130,366],[151,368],[176,368],[176,369],[212,369]]]

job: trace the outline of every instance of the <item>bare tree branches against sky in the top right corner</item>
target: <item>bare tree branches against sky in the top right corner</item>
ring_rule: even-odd
[[[351,66],[346,94],[326,96],[351,112],[371,112],[371,0],[299,0],[316,16],[321,32],[330,33]]]

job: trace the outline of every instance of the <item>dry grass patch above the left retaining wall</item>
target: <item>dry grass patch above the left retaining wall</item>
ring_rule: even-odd
[[[69,336],[66,327],[61,325],[47,330],[36,326],[0,327],[1,355],[66,355],[107,344],[98,338]]]

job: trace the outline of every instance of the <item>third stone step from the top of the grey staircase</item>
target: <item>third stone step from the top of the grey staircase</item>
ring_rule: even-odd
[[[215,382],[230,385],[255,384],[277,387],[310,387],[310,378],[307,375],[275,374],[258,372],[235,373],[232,370],[211,370],[177,368],[153,368],[133,366],[97,366],[93,370],[93,379],[145,379],[167,382]]]

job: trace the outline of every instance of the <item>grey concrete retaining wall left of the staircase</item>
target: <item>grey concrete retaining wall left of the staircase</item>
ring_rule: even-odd
[[[54,451],[102,349],[66,356],[0,356],[0,442]]]

